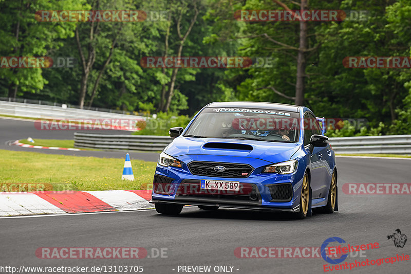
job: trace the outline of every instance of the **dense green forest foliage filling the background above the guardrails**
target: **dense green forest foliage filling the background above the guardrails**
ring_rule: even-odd
[[[74,67],[0,68],[0,97],[158,113],[164,118],[192,116],[212,101],[293,104],[300,67],[303,104],[315,114],[369,121],[367,128],[347,124],[330,136],[411,134],[411,71],[346,68],[342,62],[349,56],[409,57],[411,0],[309,1],[306,9],[367,10],[367,17],[307,22],[304,64],[297,62],[302,50],[299,22],[235,19],[237,10],[296,10],[305,2],[0,0],[0,56],[78,60]],[[39,10],[167,11],[167,16],[143,22],[38,22],[34,14]],[[145,68],[140,62],[143,57],[179,54],[264,57],[273,65],[162,69]]]

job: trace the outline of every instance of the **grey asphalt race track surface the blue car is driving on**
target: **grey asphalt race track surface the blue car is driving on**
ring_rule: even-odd
[[[13,124],[14,127],[4,130],[6,126]],[[28,123],[21,121],[17,123],[0,119],[0,149],[12,148],[4,145],[5,141],[11,139],[27,136],[34,139],[69,139],[67,136],[72,134],[35,132],[34,127],[27,129],[28,126]],[[12,149],[31,151],[24,148]],[[35,149],[33,151],[40,152]],[[52,153],[71,154],[67,151]],[[87,153],[90,154],[74,154],[116,157],[117,152]],[[0,261],[2,265],[17,268],[21,265],[142,265],[143,272],[147,273],[183,273],[178,271],[178,266],[188,265],[211,265],[210,273],[215,273],[214,266],[233,266],[234,273],[323,273],[326,262],[322,258],[247,259],[237,258],[234,250],[247,246],[320,247],[332,236],[340,237],[350,245],[379,243],[378,249],[366,251],[366,258],[359,255],[348,257],[345,261],[348,263],[396,257],[397,253],[411,254],[410,240],[403,248],[397,248],[393,241],[387,240],[387,235],[393,234],[397,228],[408,237],[411,236],[409,195],[347,195],[341,191],[342,185],[347,182],[409,183],[411,160],[338,157],[337,167],[338,213],[314,214],[306,220],[291,220],[287,215],[263,211],[219,209],[210,212],[197,207],[186,207],[179,216],[164,216],[154,210],[143,210],[9,217],[0,220]],[[166,248],[167,258],[39,259],[35,250],[40,247],[143,247],[147,249],[149,256],[153,248]],[[410,273],[409,269],[410,261],[402,261],[330,272]]]

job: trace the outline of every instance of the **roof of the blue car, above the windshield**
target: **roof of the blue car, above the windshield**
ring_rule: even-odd
[[[299,105],[287,105],[269,102],[248,102],[248,101],[234,101],[234,102],[213,102],[206,107],[241,107],[241,108],[264,108],[273,109],[275,111],[300,112]]]

